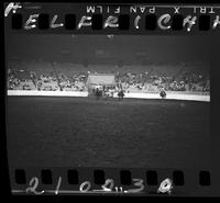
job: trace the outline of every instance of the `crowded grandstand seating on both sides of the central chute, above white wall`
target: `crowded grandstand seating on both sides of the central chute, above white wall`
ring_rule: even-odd
[[[87,91],[88,76],[114,75],[125,92],[169,92],[209,94],[208,68],[204,64],[88,65],[48,61],[10,61],[9,90]]]

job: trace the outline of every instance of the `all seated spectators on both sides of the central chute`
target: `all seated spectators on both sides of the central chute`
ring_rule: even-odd
[[[38,90],[38,91],[85,91],[87,77],[95,72],[63,74],[47,71],[36,74],[33,70],[8,69],[9,90]],[[165,91],[210,92],[210,80],[205,74],[183,71],[176,76],[163,76],[152,72],[118,72],[118,86],[125,92],[158,92]]]

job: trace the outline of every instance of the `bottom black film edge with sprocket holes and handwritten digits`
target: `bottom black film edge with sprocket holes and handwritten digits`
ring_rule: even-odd
[[[11,192],[22,195],[208,195],[208,170],[31,168],[11,170]]]

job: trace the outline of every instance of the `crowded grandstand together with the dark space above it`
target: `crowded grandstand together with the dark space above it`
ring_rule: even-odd
[[[90,74],[114,75],[125,93],[210,93],[202,36],[20,35],[8,46],[9,90],[85,92]]]

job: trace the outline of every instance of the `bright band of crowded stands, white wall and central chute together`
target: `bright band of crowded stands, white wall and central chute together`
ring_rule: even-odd
[[[208,72],[200,64],[169,66],[125,66],[110,74],[107,65],[94,65],[102,71],[81,72],[80,64],[20,63],[8,69],[9,95],[91,97],[96,99],[141,98],[210,101]],[[188,66],[188,67],[187,67]],[[41,69],[42,68],[42,69]],[[139,71],[145,69],[147,71]],[[78,72],[74,72],[73,69]],[[135,70],[132,71],[125,71]],[[166,72],[166,75],[164,75]],[[51,93],[52,92],[52,93]]]

